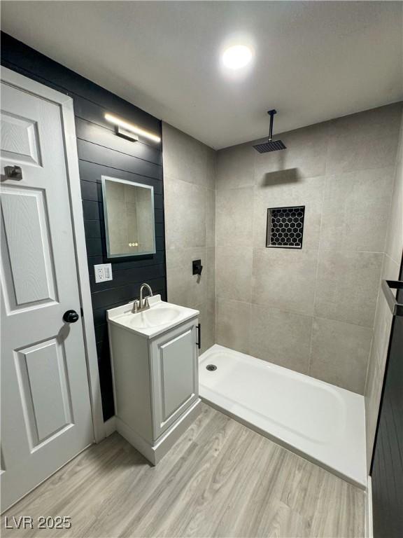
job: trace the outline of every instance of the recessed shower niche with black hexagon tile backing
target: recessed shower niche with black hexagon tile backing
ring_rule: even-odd
[[[267,209],[266,247],[301,249],[304,235],[305,206]]]

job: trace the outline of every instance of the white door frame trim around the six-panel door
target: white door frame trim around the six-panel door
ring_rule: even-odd
[[[73,99],[64,93],[52,90],[48,86],[22,76],[11,69],[1,67],[1,80],[24,90],[32,95],[55,103],[60,108],[64,144],[66,149],[66,173],[69,183],[71,222],[73,225],[73,240],[76,251],[76,267],[78,290],[80,293],[81,308],[84,316],[83,336],[85,357],[87,361],[88,385],[90,387],[90,401],[92,424],[94,427],[94,441],[99,443],[106,437],[104,416],[102,414],[101,387],[99,385],[99,371],[97,359],[97,346],[95,343],[94,318],[92,317],[92,302],[90,293],[90,277],[87,269],[87,247],[85,246],[85,231],[83,218],[83,205],[81,201],[80,174],[78,172],[78,154],[76,142],[76,125],[74,123]]]

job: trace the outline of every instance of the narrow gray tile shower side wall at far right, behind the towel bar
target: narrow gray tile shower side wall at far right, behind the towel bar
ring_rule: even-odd
[[[403,250],[403,118],[400,130],[400,144],[397,151],[397,165],[394,171],[393,195],[388,209],[388,233],[382,261],[381,278],[399,280],[400,263]],[[365,417],[367,434],[367,466],[371,464],[372,449],[376,432],[376,422],[381,401],[383,375],[385,373],[386,357],[392,315],[383,293],[379,290],[375,322],[374,339],[369,355],[367,383],[365,386]]]

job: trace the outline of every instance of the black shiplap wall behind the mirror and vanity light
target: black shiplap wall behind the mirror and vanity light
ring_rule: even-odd
[[[104,419],[114,414],[106,310],[139,296],[142,282],[167,296],[164,242],[164,188],[160,144],[129,142],[115,135],[106,111],[161,135],[161,122],[99,85],[1,32],[1,64],[73,97]],[[157,253],[139,258],[106,258],[101,176],[153,185]],[[95,284],[93,265],[112,263],[113,280]]]

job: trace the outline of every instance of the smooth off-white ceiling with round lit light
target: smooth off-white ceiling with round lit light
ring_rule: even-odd
[[[403,99],[402,6],[389,1],[2,1],[1,27],[209,146]],[[224,71],[220,51],[255,49]]]

